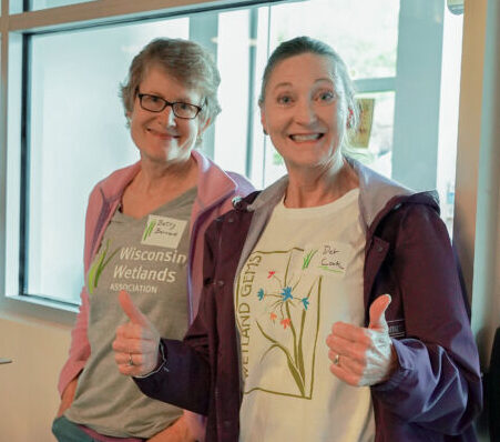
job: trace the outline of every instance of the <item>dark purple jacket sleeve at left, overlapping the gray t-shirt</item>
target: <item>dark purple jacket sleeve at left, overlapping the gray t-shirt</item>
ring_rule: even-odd
[[[146,378],[133,378],[150,398],[198,414],[208,413],[211,395],[210,348],[215,333],[213,275],[215,259],[211,238],[216,242],[216,222],[205,234],[203,291],[197,315],[183,341],[162,339],[165,363]],[[211,333],[212,332],[212,333]]]

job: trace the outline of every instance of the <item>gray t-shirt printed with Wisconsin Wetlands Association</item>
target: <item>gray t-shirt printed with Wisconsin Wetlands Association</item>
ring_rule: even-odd
[[[151,438],[182,410],[141,393],[114,362],[116,327],[126,321],[118,293],[126,290],[162,336],[187,330],[190,218],[196,188],[142,219],[116,211],[86,275],[91,355],[65,416],[101,434]]]

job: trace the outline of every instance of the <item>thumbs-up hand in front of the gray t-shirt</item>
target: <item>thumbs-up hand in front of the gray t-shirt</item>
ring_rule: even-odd
[[[119,301],[129,322],[116,329],[113,341],[118,368],[122,374],[131,376],[151,373],[159,364],[160,333],[133,303],[127,292],[122,290]]]

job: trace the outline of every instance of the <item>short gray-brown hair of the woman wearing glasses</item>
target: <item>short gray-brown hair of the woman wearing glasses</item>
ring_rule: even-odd
[[[160,38],[139,52],[129,69],[126,81],[121,84],[121,98],[125,114],[132,112],[139,84],[151,66],[159,66],[190,89],[200,91],[203,98],[201,117],[214,122],[221,112],[217,88],[221,76],[211,53],[200,44],[182,40]]]

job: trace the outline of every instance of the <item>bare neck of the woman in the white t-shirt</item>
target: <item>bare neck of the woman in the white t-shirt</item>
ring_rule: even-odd
[[[285,207],[313,208],[338,200],[359,187],[356,172],[341,155],[315,168],[289,168]]]

